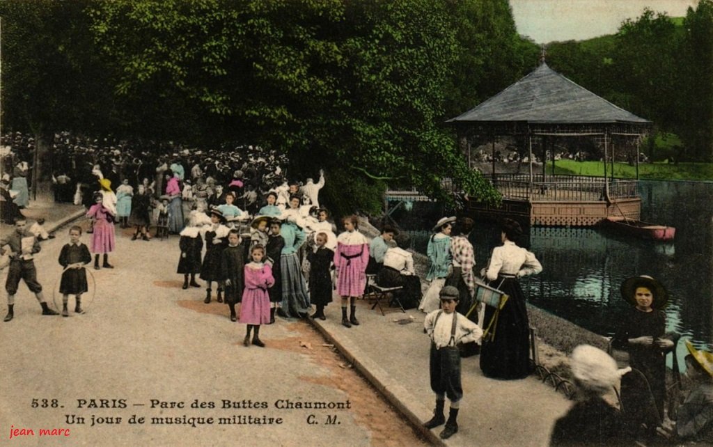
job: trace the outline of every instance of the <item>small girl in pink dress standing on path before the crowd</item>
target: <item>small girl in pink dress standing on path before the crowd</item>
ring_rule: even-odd
[[[255,245],[250,249],[252,262],[245,266],[245,291],[240,303],[240,323],[247,324],[247,334],[242,344],[250,346],[250,331],[255,328],[252,344],[265,347],[260,341],[260,324],[270,324],[270,297],[267,289],[275,284],[270,264],[264,264],[265,248]]]

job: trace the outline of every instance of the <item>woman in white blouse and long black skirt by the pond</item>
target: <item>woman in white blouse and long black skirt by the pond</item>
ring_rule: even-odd
[[[518,278],[542,272],[542,264],[533,253],[515,245],[523,230],[512,219],[503,220],[503,245],[493,249],[485,276],[491,287],[508,294],[508,301],[498,316],[494,337],[483,339],[481,370],[496,379],[522,379],[532,371],[530,365],[530,324],[525,296]],[[493,318],[495,309],[486,306],[485,322]]]

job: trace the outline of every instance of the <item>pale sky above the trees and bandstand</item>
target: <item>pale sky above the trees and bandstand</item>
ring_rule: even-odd
[[[510,0],[520,35],[536,43],[583,40],[614,34],[625,19],[636,19],[645,7],[685,16],[698,0]]]

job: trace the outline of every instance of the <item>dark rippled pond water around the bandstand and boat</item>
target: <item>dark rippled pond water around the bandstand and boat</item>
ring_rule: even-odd
[[[713,183],[642,181],[641,217],[676,227],[673,243],[615,235],[604,228],[533,227],[521,245],[535,253],[544,270],[522,282],[530,303],[605,336],[616,330],[628,304],[619,287],[628,277],[648,274],[669,290],[667,330],[713,348]],[[394,213],[425,253],[429,230],[441,207],[416,203]],[[496,224],[476,222],[471,233],[478,270],[500,245]],[[679,344],[679,359],[685,353]]]

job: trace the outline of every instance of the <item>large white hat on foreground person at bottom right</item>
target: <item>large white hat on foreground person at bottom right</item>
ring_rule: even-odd
[[[618,369],[612,356],[589,344],[580,344],[570,360],[572,375],[585,389],[604,394],[615,386],[631,368]]]

